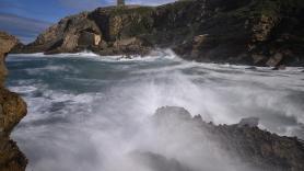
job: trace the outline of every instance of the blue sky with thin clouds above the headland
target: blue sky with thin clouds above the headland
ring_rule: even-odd
[[[126,0],[126,3],[159,5],[173,1]],[[0,0],[0,31],[15,35],[27,44],[67,15],[115,3],[116,0]]]

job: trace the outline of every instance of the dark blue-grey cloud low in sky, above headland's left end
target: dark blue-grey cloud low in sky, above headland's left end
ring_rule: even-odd
[[[0,13],[0,30],[17,36],[23,43],[30,43],[51,25],[49,22],[19,16],[15,14]]]

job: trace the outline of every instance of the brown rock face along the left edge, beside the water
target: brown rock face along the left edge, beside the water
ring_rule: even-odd
[[[24,171],[27,164],[25,156],[10,139],[14,126],[26,115],[26,103],[4,88],[8,75],[4,58],[17,44],[15,37],[0,32],[0,171]]]

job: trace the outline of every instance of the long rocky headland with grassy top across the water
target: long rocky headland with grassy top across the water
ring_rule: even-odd
[[[179,0],[67,16],[14,53],[147,55],[172,48],[204,62],[304,66],[304,1]]]

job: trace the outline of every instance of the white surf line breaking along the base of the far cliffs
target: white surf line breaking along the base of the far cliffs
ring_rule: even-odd
[[[11,58],[10,58],[11,57]],[[8,60],[31,60],[28,58],[15,58],[15,57],[38,57],[38,58],[47,58],[47,57],[56,57],[56,58],[84,58],[96,61],[108,61],[108,62],[126,62],[126,61],[155,61],[160,59],[171,59],[174,61],[179,61],[180,64],[186,64],[187,66],[192,67],[202,67],[209,69],[217,70],[243,70],[243,71],[265,71],[265,72],[303,72],[304,67],[287,67],[282,70],[273,70],[273,67],[253,67],[246,65],[231,65],[231,64],[214,64],[214,62],[197,62],[197,61],[188,61],[178,57],[172,49],[154,49],[150,54],[145,56],[132,55],[126,57],[125,55],[114,55],[114,56],[100,56],[94,54],[93,52],[81,52],[74,54],[54,54],[54,55],[44,55],[43,53],[36,54],[10,54]]]

